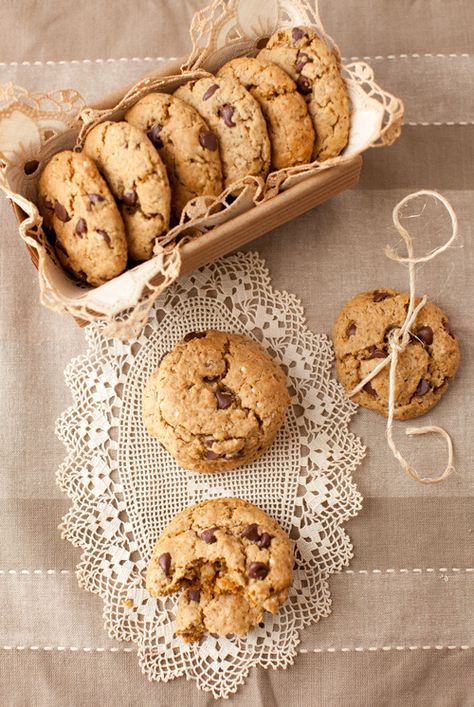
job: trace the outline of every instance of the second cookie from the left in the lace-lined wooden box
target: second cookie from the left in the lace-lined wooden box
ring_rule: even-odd
[[[148,260],[170,220],[170,186],[158,152],[144,132],[124,121],[92,128],[84,152],[120,202],[130,258]]]

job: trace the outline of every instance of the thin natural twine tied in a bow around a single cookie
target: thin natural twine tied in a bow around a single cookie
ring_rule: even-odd
[[[400,223],[400,210],[407,204],[409,201],[412,199],[416,199],[419,196],[432,196],[434,199],[437,199],[440,201],[445,209],[447,210],[450,218],[451,218],[451,225],[452,225],[452,234],[451,237],[444,243],[443,245],[439,246],[438,248],[435,248],[431,253],[428,253],[427,255],[421,256],[419,258],[415,258],[414,251],[413,251],[413,242],[411,239],[410,234],[404,228],[401,223]],[[380,371],[385,368],[388,364],[390,364],[390,371],[389,371],[389,393],[388,393],[388,417],[387,417],[387,426],[385,430],[385,435],[387,437],[387,442],[388,446],[392,450],[392,453],[394,457],[398,460],[400,463],[400,466],[402,467],[403,471],[405,474],[410,476],[412,479],[415,481],[418,481],[421,484],[438,484],[440,481],[443,481],[446,479],[453,471],[454,471],[454,465],[453,465],[453,443],[451,441],[451,437],[449,434],[446,432],[446,430],[443,430],[442,427],[437,427],[434,425],[429,425],[427,427],[409,427],[407,430],[405,430],[406,434],[409,436],[412,435],[424,435],[424,434],[429,434],[430,432],[434,434],[439,434],[444,439],[446,440],[446,445],[448,448],[448,463],[446,465],[446,468],[444,469],[443,473],[436,477],[436,478],[425,478],[419,476],[418,472],[416,469],[414,469],[412,466],[408,464],[406,459],[403,458],[402,454],[400,451],[397,449],[397,446],[393,440],[393,434],[392,434],[392,428],[393,428],[393,415],[395,411],[395,374],[397,370],[397,362],[398,362],[398,356],[401,354],[405,348],[408,346],[410,342],[410,328],[413,325],[413,323],[416,320],[416,317],[418,315],[418,312],[425,306],[427,297],[426,295],[421,299],[419,304],[415,307],[415,265],[417,263],[427,263],[429,260],[433,260],[433,258],[436,258],[437,255],[440,253],[443,253],[445,250],[447,250],[450,245],[453,243],[455,238],[458,235],[458,220],[456,218],[456,214],[454,213],[454,210],[447,201],[444,196],[441,194],[438,194],[438,192],[431,191],[429,189],[417,191],[413,194],[409,194],[406,196],[404,199],[402,199],[393,209],[392,212],[392,218],[393,218],[393,223],[395,225],[395,228],[405,241],[405,245],[407,248],[407,253],[408,257],[403,258],[397,255],[395,250],[391,246],[385,246],[385,255],[390,258],[391,260],[395,260],[397,263],[407,263],[408,264],[408,272],[409,272],[409,281],[410,281],[410,300],[409,300],[409,305],[408,305],[408,311],[407,315],[405,318],[405,321],[403,322],[402,326],[399,329],[392,329],[392,331],[389,334],[388,337],[388,343],[389,343],[389,355],[384,358],[377,366],[362,380],[353,390],[349,393],[349,397],[352,397],[356,393],[358,393],[362,388],[372,380],[372,378],[375,378],[375,376],[380,373]]]

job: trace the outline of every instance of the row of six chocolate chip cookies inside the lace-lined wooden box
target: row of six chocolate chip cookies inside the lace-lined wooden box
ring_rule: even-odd
[[[45,231],[66,270],[101,285],[151,258],[191,199],[336,157],[349,123],[332,51],[312,29],[278,31],[256,58],[150,93],[92,128],[81,152],[54,155],[39,182]]]

